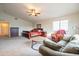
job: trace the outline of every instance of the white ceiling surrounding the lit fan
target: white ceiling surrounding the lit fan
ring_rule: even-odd
[[[28,16],[27,6],[32,5],[41,9],[39,16]],[[78,3],[37,3],[37,4],[21,4],[21,3],[4,3],[0,4],[0,9],[4,12],[20,17],[25,20],[38,21],[46,18],[59,17],[79,11]]]

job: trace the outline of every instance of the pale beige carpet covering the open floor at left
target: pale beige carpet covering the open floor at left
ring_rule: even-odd
[[[41,56],[24,37],[0,38],[0,56]]]

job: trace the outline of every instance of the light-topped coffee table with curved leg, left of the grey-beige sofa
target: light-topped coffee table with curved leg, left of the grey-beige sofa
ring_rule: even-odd
[[[45,40],[45,39],[46,39],[46,37],[42,37],[42,36],[37,36],[37,37],[30,38],[30,40],[32,42],[31,48],[34,49],[34,50],[37,50],[37,49],[34,48],[34,45],[43,44],[43,40]]]

